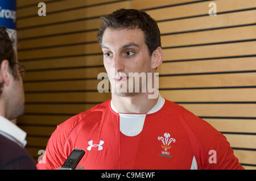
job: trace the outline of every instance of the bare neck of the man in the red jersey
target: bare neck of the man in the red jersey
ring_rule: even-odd
[[[156,103],[156,99],[148,99],[148,94],[137,94],[133,96],[118,96],[112,93],[112,102],[119,113],[147,113]]]

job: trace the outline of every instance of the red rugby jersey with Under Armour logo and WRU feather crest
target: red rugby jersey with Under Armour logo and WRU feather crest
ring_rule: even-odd
[[[73,149],[85,150],[85,169],[243,169],[223,134],[168,100],[132,137],[119,131],[110,100],[71,117],[52,133],[38,169],[61,167]]]

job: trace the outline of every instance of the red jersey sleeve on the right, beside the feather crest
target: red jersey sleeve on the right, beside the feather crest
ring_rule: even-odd
[[[199,169],[204,170],[236,170],[243,169],[234,155],[226,137],[212,127],[207,121],[200,119],[183,108],[183,116],[190,129],[190,137]],[[192,135],[193,134],[193,135]],[[199,148],[199,149],[198,149]]]

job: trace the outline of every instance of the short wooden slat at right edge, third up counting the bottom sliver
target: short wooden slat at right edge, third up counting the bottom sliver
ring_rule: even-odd
[[[256,135],[224,134],[224,136],[232,147],[256,148]]]

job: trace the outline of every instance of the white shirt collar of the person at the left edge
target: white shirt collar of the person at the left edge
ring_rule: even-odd
[[[27,133],[3,116],[0,116],[0,134],[22,147],[27,144]]]

